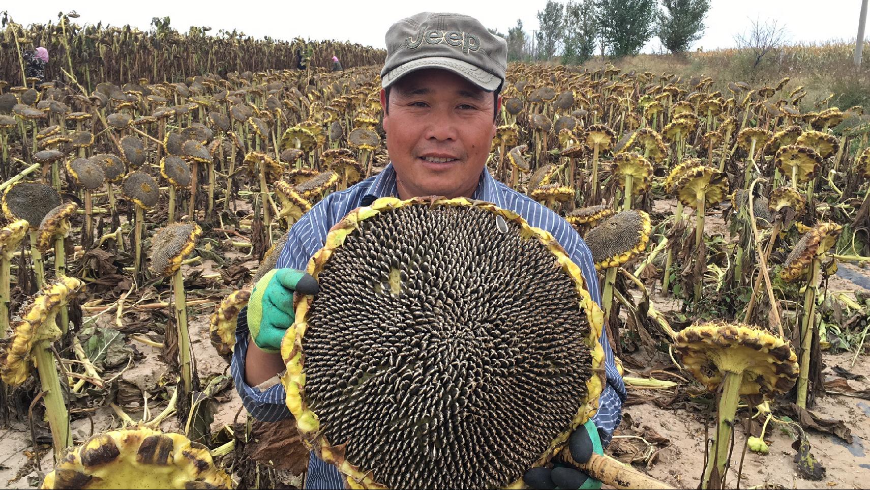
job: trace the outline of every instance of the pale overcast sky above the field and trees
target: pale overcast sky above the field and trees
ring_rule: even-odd
[[[398,2],[396,0],[290,0],[285,2],[183,2],[146,0],[111,2],[104,0],[43,0],[4,2],[17,23],[45,23],[57,20],[60,10],[77,10],[77,23],[123,25],[149,29],[151,17],[171,17],[171,25],[186,31],[191,25],[207,25],[212,32],[238,29],[255,37],[349,40],[384,47],[384,34],[391,23],[419,10],[460,12],[477,17],[487,27],[507,32],[522,19],[525,30],[538,29],[536,13],[546,0],[440,0]],[[734,35],[746,30],[751,19],[777,19],[786,27],[793,43],[830,40],[854,41],[858,31],[861,0],[712,0],[706,18],[706,32],[693,48],[705,50],[734,45]],[[426,8],[426,5],[429,8]],[[870,34],[870,33],[868,33]],[[655,38],[646,50],[655,50]]]

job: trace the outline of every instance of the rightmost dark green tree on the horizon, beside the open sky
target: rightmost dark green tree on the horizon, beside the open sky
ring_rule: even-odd
[[[672,53],[689,50],[704,34],[704,17],[710,10],[710,0],[662,0],[662,6],[665,10],[657,14],[661,44]]]

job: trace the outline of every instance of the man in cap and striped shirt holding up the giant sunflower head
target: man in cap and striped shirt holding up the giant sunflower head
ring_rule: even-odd
[[[424,12],[393,24],[386,34],[386,46],[381,104],[391,164],[376,177],[332,193],[293,225],[277,268],[258,281],[247,312],[239,315],[232,373],[244,406],[259,420],[290,416],[284,406],[284,386],[275,375],[284,370],[278,349],[293,320],[292,291],[318,291],[317,282],[302,271],[324,244],[331,226],[375,198],[464,196],[516,211],[530,225],[559,240],[580,266],[592,299],[600,304],[592,254],[577,232],[525,194],[496,182],[485,169],[496,132],[499,91],[505,83],[505,40],[490,34],[472,17]],[[601,442],[609,442],[626,399],[605,334],[601,344],[606,352],[607,383],[594,420],[572,433],[570,446],[579,462],[588,459],[592,447],[600,453]],[[583,450],[586,459],[580,455]],[[535,470],[525,480],[537,487],[600,485],[566,467],[552,472]],[[338,470],[311,453],[305,487],[343,485]]]

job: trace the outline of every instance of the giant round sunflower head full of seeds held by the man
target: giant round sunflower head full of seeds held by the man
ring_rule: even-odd
[[[519,486],[591,415],[602,313],[549,234],[465,198],[382,198],[325,244],[283,383],[302,436],[352,485]]]

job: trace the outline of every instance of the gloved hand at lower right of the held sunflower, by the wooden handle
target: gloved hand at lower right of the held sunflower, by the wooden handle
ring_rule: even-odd
[[[586,424],[577,427],[568,438],[568,449],[571,457],[578,463],[586,463],[592,457],[592,453],[604,454],[601,448],[601,440],[598,428],[587,420]],[[563,449],[564,451],[564,449]],[[575,467],[559,466],[550,468],[532,468],[523,475],[525,484],[532,488],[600,488],[601,482],[593,479]]]

